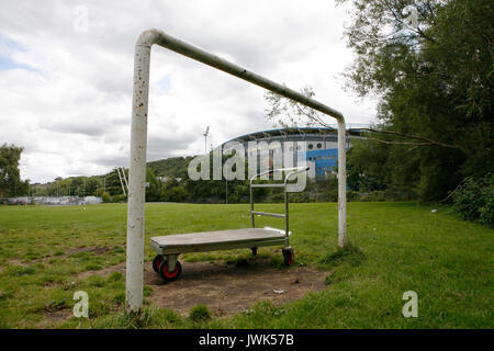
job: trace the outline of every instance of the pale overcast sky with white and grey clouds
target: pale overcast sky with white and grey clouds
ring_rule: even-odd
[[[149,27],[292,89],[308,84],[349,123],[375,116],[374,101],[344,89],[350,15],[330,0],[0,0],[0,144],[24,147],[21,178],[32,183],[128,166],[134,43]],[[214,146],[271,128],[265,92],[154,47],[148,160],[203,152],[206,125]]]

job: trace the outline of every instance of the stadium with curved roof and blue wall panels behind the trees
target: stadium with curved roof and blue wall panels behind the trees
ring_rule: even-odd
[[[356,125],[347,128],[347,149],[355,138],[362,138],[363,125]],[[222,148],[227,149],[228,144],[237,141],[244,145],[246,157],[258,154],[258,157],[269,152],[276,152],[278,148],[296,152],[293,157],[293,166],[301,161],[310,167],[308,177],[312,179],[325,179],[337,167],[338,160],[338,128],[337,127],[290,127],[254,132],[233,138],[222,144]],[[257,141],[252,147],[249,143]],[[266,141],[266,143],[262,143]],[[259,162],[258,162],[259,165]]]

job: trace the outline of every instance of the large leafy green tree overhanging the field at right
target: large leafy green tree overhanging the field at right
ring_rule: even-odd
[[[424,200],[439,200],[465,177],[492,171],[491,1],[338,2],[351,2],[355,9],[346,31],[357,54],[345,75],[348,86],[362,97],[380,99],[379,124],[367,136],[386,146],[381,181],[416,191]],[[416,22],[409,21],[411,14]],[[313,94],[307,88],[305,92]],[[299,121],[325,125],[319,114],[271,97],[268,118],[287,106],[299,113]],[[368,149],[368,156],[375,151]],[[366,152],[352,152],[360,160],[350,156],[349,167],[364,160]],[[372,174],[375,163],[367,159],[359,172]]]

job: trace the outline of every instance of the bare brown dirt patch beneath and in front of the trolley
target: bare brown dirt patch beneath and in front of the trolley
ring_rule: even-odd
[[[329,272],[308,267],[277,269],[268,260],[251,259],[237,267],[225,263],[182,263],[178,281],[164,283],[146,264],[144,283],[153,287],[147,297],[159,307],[188,315],[198,304],[206,305],[215,316],[239,313],[260,301],[280,306],[326,287]]]

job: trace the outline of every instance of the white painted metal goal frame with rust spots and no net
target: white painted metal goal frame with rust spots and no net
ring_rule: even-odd
[[[159,45],[232,76],[262,87],[284,98],[327,114],[338,122],[338,245],[347,245],[346,126],[343,114],[318,101],[232,64],[194,45],[159,30],[143,32],[135,44],[132,98],[131,163],[128,174],[126,303],[127,313],[143,306],[144,218],[146,186],[147,114],[149,100],[149,63],[153,45]]]

